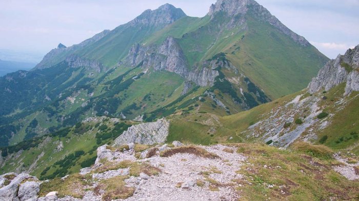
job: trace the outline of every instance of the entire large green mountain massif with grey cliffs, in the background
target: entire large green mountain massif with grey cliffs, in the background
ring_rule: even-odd
[[[235,114],[304,88],[327,59],[255,1],[204,17],[166,4],[0,77],[0,146],[92,116]]]

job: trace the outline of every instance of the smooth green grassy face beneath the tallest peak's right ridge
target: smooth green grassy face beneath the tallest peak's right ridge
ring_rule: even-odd
[[[269,24],[248,17],[248,27],[245,37],[225,51],[272,99],[305,88],[328,61],[313,46],[300,46]]]

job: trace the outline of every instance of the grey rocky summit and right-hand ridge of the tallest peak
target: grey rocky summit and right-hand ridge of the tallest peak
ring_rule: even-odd
[[[288,35],[296,43],[302,46],[309,46],[309,42],[303,37],[300,36],[290,29],[283,25],[275,16],[273,16],[266,8],[255,2],[254,0],[218,0],[215,4],[212,4],[210,7],[208,15],[212,18],[218,12],[225,12],[228,16],[244,16],[247,13],[254,15],[259,21],[264,21],[284,34]],[[241,22],[244,18],[240,20],[237,19],[237,22]],[[233,23],[232,23],[233,24]],[[243,24],[243,22],[241,23]]]

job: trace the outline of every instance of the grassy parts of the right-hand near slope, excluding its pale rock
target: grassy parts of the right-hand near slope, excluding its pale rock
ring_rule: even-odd
[[[329,125],[325,129],[319,129],[323,120],[314,125],[317,130],[318,138],[314,143],[320,144],[319,139],[327,135],[328,139],[324,145],[334,149],[343,150],[349,149],[355,154],[359,154],[359,144],[357,134],[359,133],[358,109],[359,109],[359,93],[353,92],[350,96],[344,97],[347,104],[337,112],[336,102],[343,99],[345,84],[337,86],[325,94],[318,94],[326,96],[326,99],[320,101],[320,105],[324,107],[324,111],[330,114],[323,120],[328,120]],[[291,95],[276,99],[273,102],[263,104],[252,108],[248,111],[243,111],[229,116],[217,116],[209,113],[201,113],[202,109],[192,111],[187,116],[174,115],[171,120],[171,127],[168,140],[184,140],[185,142],[192,142],[196,144],[213,144],[225,142],[248,142],[256,141],[256,138],[248,139],[241,134],[247,128],[256,122],[266,118],[272,109],[281,108],[286,103],[290,102],[297,95],[304,94],[306,91],[299,91]],[[206,103],[200,103],[200,107],[206,106]],[[209,108],[205,111],[210,111]],[[217,123],[213,120],[213,116],[217,118]],[[209,120],[210,119],[210,120]],[[292,124],[295,127],[295,124]],[[215,132],[209,132],[211,129]],[[213,134],[213,135],[210,135]],[[306,132],[304,133],[306,134]],[[232,138],[231,138],[232,137]],[[230,139],[231,138],[231,139]]]

